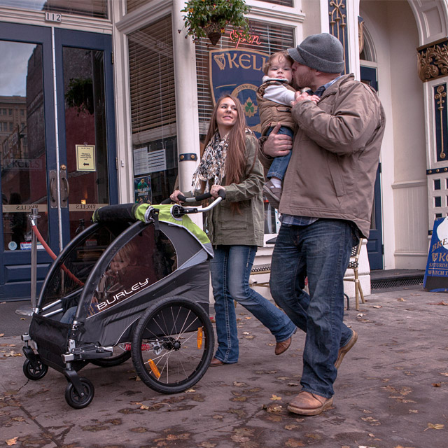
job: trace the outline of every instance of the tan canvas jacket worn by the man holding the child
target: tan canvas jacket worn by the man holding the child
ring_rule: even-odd
[[[368,237],[385,125],[376,92],[345,75],[318,104],[296,104],[293,118],[298,130],[279,211],[352,221]],[[272,162],[262,146],[260,160],[265,167]]]

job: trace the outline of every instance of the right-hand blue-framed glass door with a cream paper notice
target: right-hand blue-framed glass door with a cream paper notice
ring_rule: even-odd
[[[111,36],[55,30],[63,244],[118,202]]]

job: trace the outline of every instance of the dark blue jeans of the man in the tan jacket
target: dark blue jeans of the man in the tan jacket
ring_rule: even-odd
[[[272,297],[307,333],[300,384],[325,398],[334,395],[339,347],[353,335],[343,323],[343,279],[356,244],[349,221],[318,219],[310,225],[281,225],[272,254]],[[309,295],[302,290],[305,276]]]

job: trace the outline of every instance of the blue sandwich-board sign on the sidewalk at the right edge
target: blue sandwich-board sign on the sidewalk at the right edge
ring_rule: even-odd
[[[434,221],[423,288],[433,293],[448,291],[448,217]]]

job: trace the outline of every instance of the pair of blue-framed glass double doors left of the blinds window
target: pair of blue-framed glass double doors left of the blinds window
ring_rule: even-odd
[[[118,202],[111,36],[0,22],[0,67],[0,300],[17,300],[31,290],[31,208],[57,254]],[[41,245],[37,262],[39,290]]]

